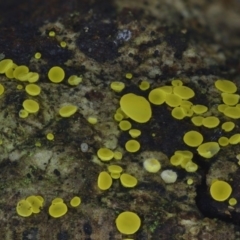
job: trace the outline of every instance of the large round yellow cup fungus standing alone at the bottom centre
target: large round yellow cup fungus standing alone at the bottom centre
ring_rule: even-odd
[[[134,234],[141,226],[141,219],[134,212],[122,212],[116,218],[116,227],[122,234]]]

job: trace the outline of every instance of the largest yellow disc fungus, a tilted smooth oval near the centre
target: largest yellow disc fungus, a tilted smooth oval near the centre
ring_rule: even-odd
[[[127,116],[139,123],[147,122],[152,116],[152,109],[146,98],[133,93],[123,95],[120,106]]]

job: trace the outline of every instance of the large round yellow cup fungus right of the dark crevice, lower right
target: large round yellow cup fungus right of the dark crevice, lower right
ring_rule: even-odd
[[[210,194],[216,201],[222,202],[229,198],[232,187],[225,181],[216,180],[211,184]]]

